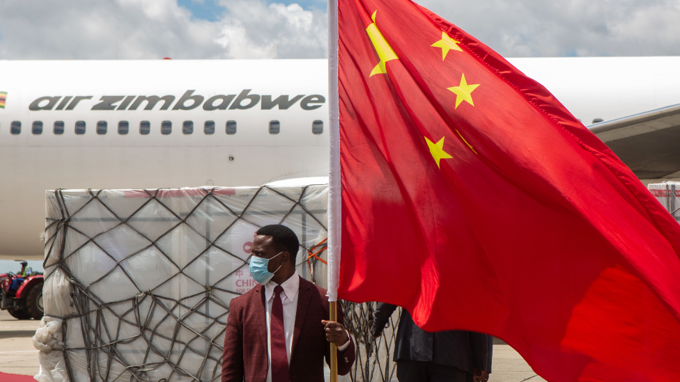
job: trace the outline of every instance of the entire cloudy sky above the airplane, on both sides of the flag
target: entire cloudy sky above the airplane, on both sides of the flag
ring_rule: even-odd
[[[680,0],[421,0],[507,57],[680,55]],[[325,0],[0,0],[0,59],[325,58]]]

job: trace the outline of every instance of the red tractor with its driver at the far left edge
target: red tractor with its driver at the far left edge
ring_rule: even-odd
[[[33,272],[22,262],[20,273],[0,274],[0,309],[16,319],[41,319],[42,273]]]

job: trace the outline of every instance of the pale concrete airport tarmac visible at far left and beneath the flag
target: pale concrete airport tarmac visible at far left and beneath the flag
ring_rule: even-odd
[[[0,372],[9,374],[38,374],[38,351],[33,347],[33,334],[40,321],[20,321],[5,310],[0,311]],[[491,382],[542,382],[511,347],[497,341],[493,345],[493,374]]]

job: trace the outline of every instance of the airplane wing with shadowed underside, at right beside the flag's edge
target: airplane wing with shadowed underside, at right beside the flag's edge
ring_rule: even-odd
[[[588,126],[640,179],[680,177],[680,104]]]

